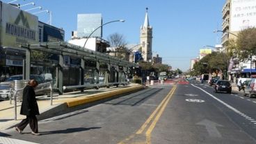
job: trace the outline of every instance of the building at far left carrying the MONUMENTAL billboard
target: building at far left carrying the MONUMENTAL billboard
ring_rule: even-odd
[[[2,1],[0,19],[0,75],[4,77],[22,74],[26,54],[20,45],[64,40],[63,29],[40,22],[37,16]],[[38,62],[45,65],[41,59],[38,59],[36,65],[35,61],[31,62],[33,72],[33,69],[41,67]]]

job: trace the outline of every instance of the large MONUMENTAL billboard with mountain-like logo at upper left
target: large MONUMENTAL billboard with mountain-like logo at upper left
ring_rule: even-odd
[[[38,17],[7,3],[1,7],[1,47],[38,42]]]

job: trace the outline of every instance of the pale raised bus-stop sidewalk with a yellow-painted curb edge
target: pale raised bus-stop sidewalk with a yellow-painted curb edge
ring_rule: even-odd
[[[37,97],[40,110],[38,120],[51,118],[65,112],[67,113],[68,111],[72,111],[72,109],[75,107],[98,102],[102,99],[111,98],[143,88],[144,87],[141,85],[131,83],[128,86],[119,86],[118,88],[99,88],[99,90],[85,90],[83,93],[80,91],[65,93],[64,95],[55,95],[52,105],[50,97]],[[14,127],[14,125],[19,123],[22,119],[26,118],[25,115],[19,114],[20,105],[21,103],[17,103],[17,120],[14,120],[14,102],[12,102],[12,104],[10,104],[9,100],[0,102],[0,130]]]

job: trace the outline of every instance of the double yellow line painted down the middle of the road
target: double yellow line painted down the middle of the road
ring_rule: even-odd
[[[154,112],[150,115],[149,118],[147,118],[147,120],[145,121],[145,123],[141,126],[140,129],[138,129],[138,131],[136,131],[136,134],[132,134],[131,136],[129,136],[128,138],[125,138],[124,141],[121,141],[120,143],[118,144],[125,144],[125,143],[129,143],[129,141],[131,141],[132,138],[136,138],[138,136],[141,136],[143,131],[145,130],[145,128],[147,127],[147,125],[151,123],[151,125],[148,127],[147,131],[145,132],[145,136],[146,136],[146,139],[145,141],[142,141],[142,142],[130,142],[130,143],[136,143],[136,144],[139,144],[139,143],[151,143],[151,133],[155,127],[155,125],[157,124],[161,114],[163,113],[164,109],[166,109],[166,106],[168,104],[168,102],[170,101],[170,98],[173,96],[173,93],[175,93],[175,90],[176,90],[176,85],[172,88],[172,90],[170,90],[170,92],[168,93],[168,95],[162,100],[162,102],[159,104],[159,106],[157,106],[157,109],[154,110]],[[156,115],[156,116],[155,116]],[[153,120],[154,118],[154,120]]]

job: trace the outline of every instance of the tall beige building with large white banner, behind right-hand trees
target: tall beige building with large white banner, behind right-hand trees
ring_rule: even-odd
[[[222,51],[227,51],[228,40],[236,40],[239,31],[256,26],[256,0],[226,0],[222,10],[222,18]],[[252,68],[253,64],[248,67],[246,63],[251,62],[239,62],[236,58],[233,58],[228,68],[229,79],[238,77],[239,72],[246,73],[247,70],[245,69]]]

